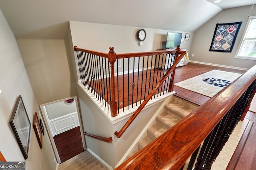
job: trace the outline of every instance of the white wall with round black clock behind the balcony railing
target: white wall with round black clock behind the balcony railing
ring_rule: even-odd
[[[72,41],[79,48],[108,53],[109,47],[114,47],[117,54],[156,51],[162,48],[162,41],[166,41],[167,32],[180,32],[182,36],[188,32],[178,30],[164,30],[143,28],[146,30],[146,39],[143,45],[138,45],[137,32],[141,27],[109,25],[70,21]],[[190,50],[193,33],[190,40],[181,43],[181,48]]]

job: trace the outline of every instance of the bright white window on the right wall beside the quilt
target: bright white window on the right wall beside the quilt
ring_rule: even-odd
[[[235,58],[256,60],[256,16],[249,18],[239,47]]]

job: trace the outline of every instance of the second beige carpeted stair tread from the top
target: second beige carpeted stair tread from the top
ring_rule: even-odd
[[[178,119],[166,112],[163,112],[156,117],[156,123],[160,124],[165,129],[170,129],[170,127],[174,126],[178,121]]]

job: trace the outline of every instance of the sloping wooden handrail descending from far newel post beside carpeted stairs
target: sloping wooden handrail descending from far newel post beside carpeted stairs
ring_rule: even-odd
[[[177,50],[178,52],[179,50]],[[155,94],[156,90],[163,84],[163,82],[166,80],[166,78],[169,76],[169,74],[176,68],[176,65],[180,62],[180,60],[184,57],[185,51],[181,53],[181,55],[176,59],[173,63],[173,65],[170,67],[170,69],[164,74],[162,79],[156,84],[156,86],[152,89],[152,91],[148,94],[148,96],[145,98],[145,100],[142,102],[142,104],[136,109],[136,111],[133,113],[133,115],[128,119],[128,121],[124,124],[124,126],[120,129],[119,132],[115,132],[116,137],[120,138],[124,131],[130,126],[130,124],[134,121],[134,119],[139,115],[140,111],[146,106],[148,101],[152,98],[152,96]]]

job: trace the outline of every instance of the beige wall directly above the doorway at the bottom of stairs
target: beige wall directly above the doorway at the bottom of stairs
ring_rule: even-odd
[[[17,42],[39,105],[76,96],[64,40],[18,39]]]

